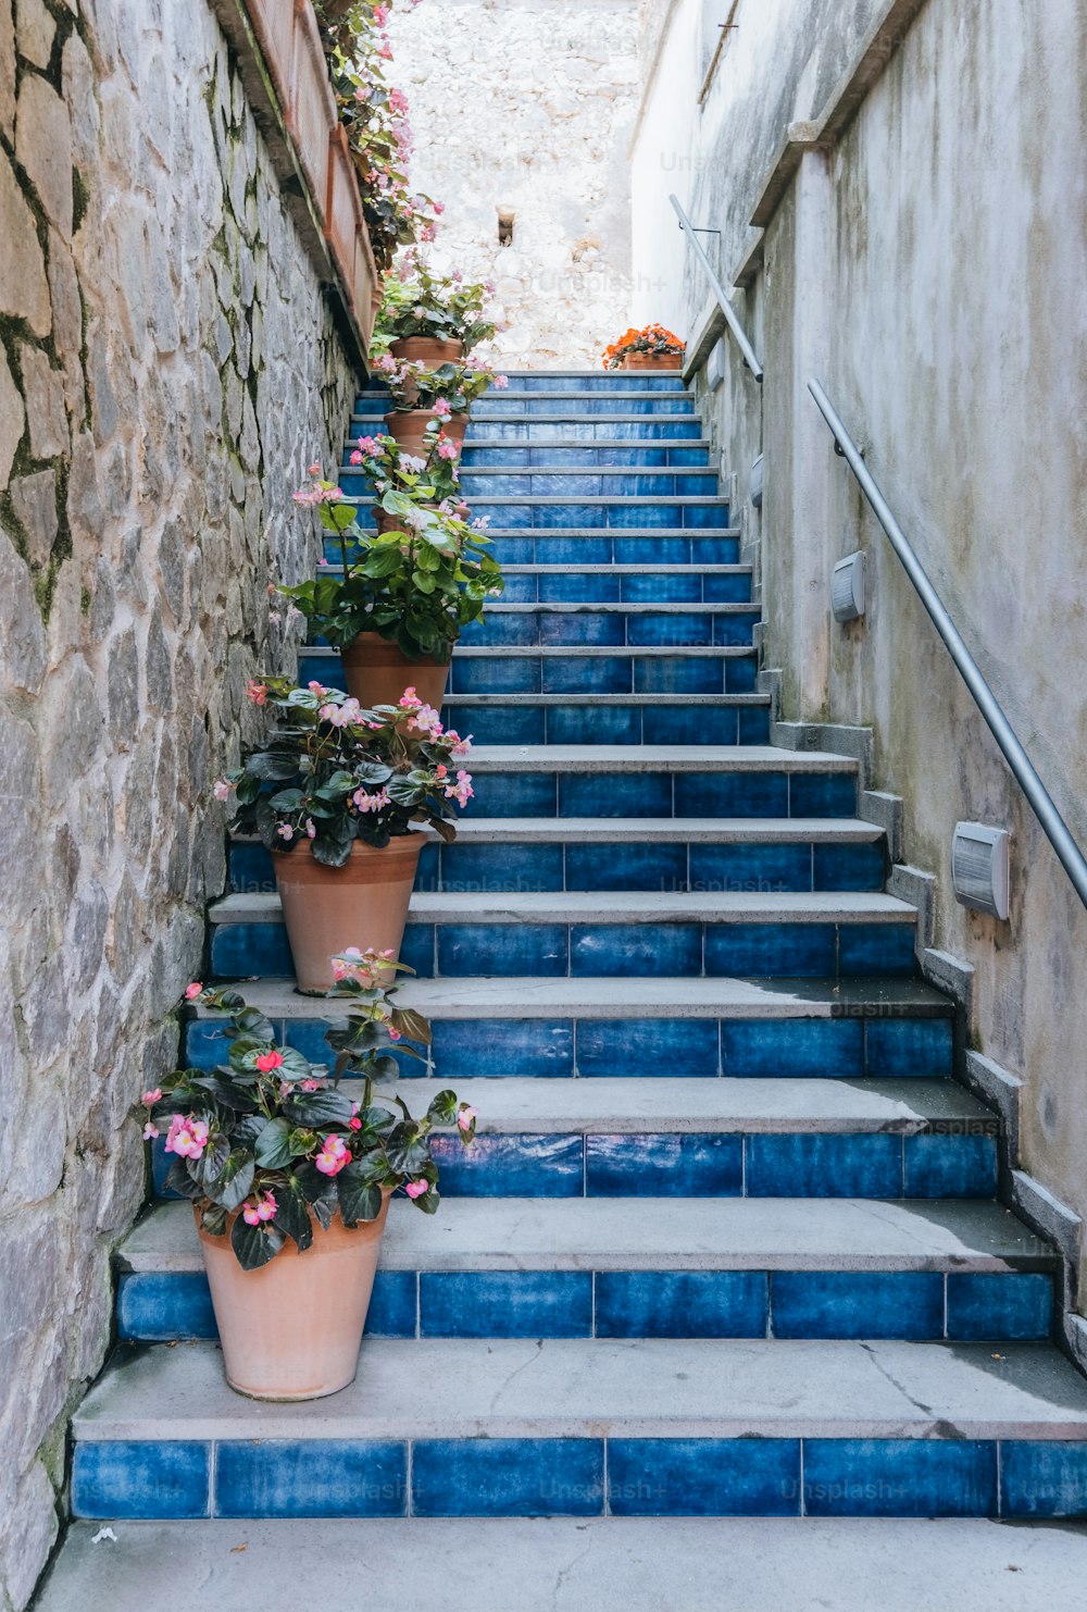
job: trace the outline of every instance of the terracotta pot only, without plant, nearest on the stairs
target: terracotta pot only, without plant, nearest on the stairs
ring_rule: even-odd
[[[287,1240],[275,1259],[243,1270],[224,1236],[196,1232],[208,1270],[227,1381],[251,1399],[320,1399],[354,1381],[391,1193],[349,1232],[314,1219],[304,1254]],[[230,1215],[230,1225],[237,1215]]]

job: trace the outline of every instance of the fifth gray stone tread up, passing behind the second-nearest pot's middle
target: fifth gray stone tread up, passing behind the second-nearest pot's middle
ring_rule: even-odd
[[[279,896],[229,895],[213,924],[282,924]],[[409,924],[913,924],[916,908],[881,891],[556,890],[415,891]]]

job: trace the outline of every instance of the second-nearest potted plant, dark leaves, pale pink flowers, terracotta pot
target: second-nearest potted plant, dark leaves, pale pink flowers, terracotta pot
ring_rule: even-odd
[[[250,698],[275,708],[277,727],[216,790],[235,796],[234,830],[259,835],[272,853],[298,990],[324,996],[329,958],[359,935],[399,954],[425,843],[412,824],[456,837],[451,803],[472,796],[459,766],[470,742],[444,732],[411,688],[374,709],[288,679],[253,682]]]

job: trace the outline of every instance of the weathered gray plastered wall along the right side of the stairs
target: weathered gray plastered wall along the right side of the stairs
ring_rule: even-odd
[[[787,124],[823,113],[889,10],[741,0],[692,114],[696,221],[723,231],[729,271]],[[1087,11],[928,0],[894,45],[844,134],[802,158],[738,301],[762,395],[733,358],[702,397],[741,492],[758,435],[765,448],[765,659],[783,716],[871,725],[874,783],[905,800],[905,861],[937,875],[934,945],[974,969],[974,1045],[1023,1080],[1021,1162],[1082,1217],[1087,919],[805,382],[823,379],[1087,843]],[[702,305],[688,269],[689,327]],[[839,629],[828,574],[858,545],[868,614]],[[1008,924],[953,901],[958,819],[1013,833]]]

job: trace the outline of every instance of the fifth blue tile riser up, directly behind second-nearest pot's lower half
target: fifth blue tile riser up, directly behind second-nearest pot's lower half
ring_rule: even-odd
[[[911,977],[913,924],[424,924],[401,961],[424,978]],[[282,924],[216,924],[217,980],[293,972]]]

